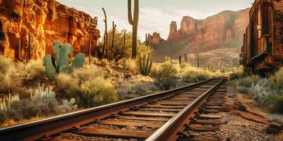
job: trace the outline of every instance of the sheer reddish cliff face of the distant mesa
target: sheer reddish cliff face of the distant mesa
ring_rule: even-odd
[[[171,23],[167,42],[188,39],[188,46],[183,51],[195,49],[206,51],[224,47],[225,42],[231,42],[235,37],[243,35],[248,26],[249,11],[250,8],[241,11],[223,11],[204,20],[184,16],[180,30],[175,30],[175,22]]]

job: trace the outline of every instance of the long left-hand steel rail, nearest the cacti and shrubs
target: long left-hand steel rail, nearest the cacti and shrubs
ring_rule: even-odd
[[[37,140],[43,136],[54,135],[64,130],[69,130],[75,126],[91,123],[96,118],[105,118],[106,116],[110,116],[110,114],[129,109],[132,106],[146,104],[146,102],[168,97],[172,94],[178,94],[185,90],[191,90],[211,80],[214,80],[214,78],[197,82],[192,85],[178,87],[165,92],[149,94],[144,97],[129,99],[122,102],[98,106],[82,111],[75,111],[70,114],[54,116],[52,118],[46,118],[40,121],[33,121],[30,123],[22,123],[6,128],[0,128],[0,140]]]

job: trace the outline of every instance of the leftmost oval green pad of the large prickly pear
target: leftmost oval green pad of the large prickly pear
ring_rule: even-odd
[[[54,79],[54,75],[56,75],[56,69],[54,67],[54,59],[50,54],[47,54],[43,60],[43,64],[45,66],[45,73],[50,80]]]

